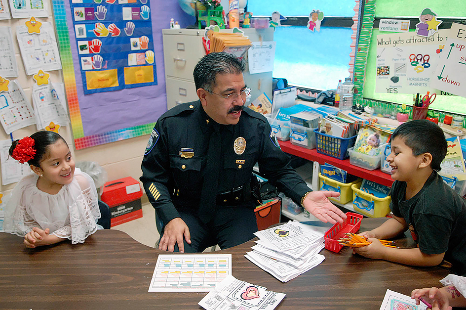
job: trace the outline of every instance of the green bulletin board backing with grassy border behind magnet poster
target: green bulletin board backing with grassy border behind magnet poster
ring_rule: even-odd
[[[376,86],[376,79],[377,79],[377,47],[378,35],[387,34],[388,36],[392,36],[395,33],[390,32],[383,32],[379,31],[379,29],[373,29],[372,23],[374,21],[374,17],[379,18],[390,18],[390,19],[403,19],[403,17],[410,17],[410,18],[417,18],[424,8],[430,8],[438,15],[438,19],[442,20],[445,17],[456,17],[456,18],[465,18],[466,14],[464,11],[458,9],[461,7],[461,0],[452,0],[452,1],[440,1],[440,0],[426,0],[426,1],[405,1],[403,5],[399,5],[399,1],[397,0],[370,0],[366,3],[365,11],[364,11],[364,21],[363,25],[365,26],[361,29],[361,35],[359,40],[359,48],[362,47],[362,50],[358,51],[356,60],[355,60],[355,85],[358,89],[359,95],[362,95],[364,98],[376,99],[381,101],[387,102],[394,102],[394,103],[406,103],[412,104],[413,102],[413,93],[421,92],[426,93],[421,87],[417,89],[417,91],[413,91],[413,93],[390,93],[390,89],[387,89],[386,92],[377,92],[380,91],[380,85],[377,89]],[[461,16],[460,14],[463,14]],[[444,18],[443,20],[447,20]],[[450,28],[448,26],[448,28]],[[446,27],[439,27],[439,34],[442,31],[446,31],[448,29]],[[390,35],[391,34],[391,35]],[[410,35],[415,35],[413,31],[409,32]],[[407,35],[407,36],[410,36]],[[440,36],[441,37],[441,36]],[[380,37],[379,37],[380,38]],[[420,38],[420,37],[419,37]],[[441,38],[440,38],[441,39]],[[435,36],[435,40],[438,41],[437,36]],[[392,42],[393,43],[393,42]],[[362,45],[361,45],[362,44]],[[437,47],[434,47],[437,44]],[[428,50],[429,48],[438,48],[438,45],[442,44],[442,42],[431,42],[430,45],[425,45],[426,48],[423,46],[423,54],[432,54],[435,55],[435,49]],[[380,47],[379,42],[379,47]],[[366,47],[366,48],[365,48]],[[389,46],[390,48],[394,48],[393,44]],[[413,46],[409,46],[408,48],[416,48],[415,44]],[[380,54],[379,49],[379,54]],[[435,61],[434,61],[435,62]],[[356,82],[357,79],[357,82]],[[410,89],[416,90],[416,89]],[[465,114],[465,107],[466,107],[466,98],[462,96],[457,96],[452,93],[448,93],[446,91],[434,90],[437,93],[436,100],[429,106],[429,108],[437,110],[437,111],[444,111],[444,112],[451,112],[451,113],[458,113],[458,114]]]

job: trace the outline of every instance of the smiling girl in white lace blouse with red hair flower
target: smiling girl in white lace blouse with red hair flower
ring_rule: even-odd
[[[16,184],[5,206],[5,232],[24,236],[28,248],[66,239],[82,243],[98,229],[97,191],[91,177],[75,169],[66,141],[41,131],[16,140],[9,154],[34,172]]]

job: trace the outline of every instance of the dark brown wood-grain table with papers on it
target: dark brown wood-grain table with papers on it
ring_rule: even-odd
[[[361,230],[385,219],[363,219]],[[411,237],[399,245],[413,246]],[[282,283],[249,262],[244,254],[253,240],[217,253],[232,254],[233,276],[286,293],[276,309],[378,310],[387,288],[410,295],[414,288],[440,286],[449,272],[340,253],[320,252],[326,259],[308,272]],[[0,309],[14,310],[184,310],[202,309],[206,293],[148,292],[157,255],[117,230],[99,230],[83,244],[69,241],[35,250],[22,238],[0,233]]]

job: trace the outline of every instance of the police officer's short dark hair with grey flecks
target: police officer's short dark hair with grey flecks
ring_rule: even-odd
[[[196,89],[212,91],[217,74],[240,74],[244,68],[244,62],[232,54],[209,53],[202,57],[194,67],[194,84]]]

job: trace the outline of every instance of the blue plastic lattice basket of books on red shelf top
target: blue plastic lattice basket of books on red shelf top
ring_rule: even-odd
[[[317,153],[325,154],[338,159],[348,158],[348,149],[354,146],[357,135],[349,138],[339,138],[325,133],[319,133],[319,129],[314,129],[317,143]]]

